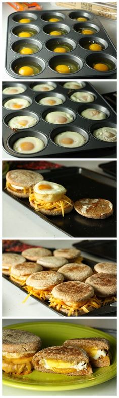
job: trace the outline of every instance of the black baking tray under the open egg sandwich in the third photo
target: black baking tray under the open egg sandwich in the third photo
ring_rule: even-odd
[[[110,200],[114,207],[113,214],[107,219],[96,220],[83,217],[73,209],[64,218],[62,216],[46,217],[40,212],[36,212],[30,206],[28,199],[17,198],[7,190],[5,190],[5,193],[27,207],[27,209],[29,208],[36,217],[47,221],[70,237],[116,237],[115,180],[82,167],[66,167],[63,170],[53,170],[48,173],[42,171],[41,173],[45,180],[63,185],[67,189],[67,196],[73,201],[81,198],[103,198]],[[3,189],[5,189],[5,180],[3,180]]]

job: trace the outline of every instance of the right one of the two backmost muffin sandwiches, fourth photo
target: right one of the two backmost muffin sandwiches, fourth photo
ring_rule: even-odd
[[[81,251],[71,247],[69,249],[56,249],[53,251],[53,255],[55,257],[65,257],[68,260],[68,263],[74,263],[75,261],[81,262],[83,257],[81,257]]]

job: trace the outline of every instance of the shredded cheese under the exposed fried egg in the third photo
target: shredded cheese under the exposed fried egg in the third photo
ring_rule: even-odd
[[[66,195],[63,195],[63,198],[58,200],[57,202],[47,203],[41,199],[38,199],[37,195],[35,194],[35,196],[34,196],[34,193],[33,193],[33,194],[29,195],[29,201],[32,202],[33,204],[35,204],[36,211],[38,211],[40,209],[45,209],[45,210],[53,209],[54,211],[61,210],[63,217],[64,217],[64,210],[66,208],[68,208],[69,205],[73,206],[71,204],[71,200]]]

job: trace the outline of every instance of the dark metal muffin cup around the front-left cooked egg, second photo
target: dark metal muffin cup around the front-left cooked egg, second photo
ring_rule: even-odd
[[[7,146],[8,146],[8,148],[10,149],[10,150],[12,150],[13,152],[14,152],[14,156],[17,156],[17,155],[19,155],[20,154],[20,152],[17,152],[17,151],[15,151],[14,149],[13,149],[13,146],[14,146],[14,143],[18,140],[18,139],[20,139],[20,138],[25,138],[25,137],[36,137],[36,138],[39,138],[39,139],[41,139],[43,142],[44,142],[44,148],[40,151],[40,152],[42,152],[42,151],[44,151],[44,149],[47,147],[47,145],[48,145],[48,142],[49,142],[49,140],[48,140],[48,138],[46,137],[46,135],[45,134],[42,134],[42,133],[40,133],[39,131],[33,131],[33,130],[27,130],[27,133],[26,133],[26,131],[24,130],[20,130],[20,132],[19,132],[19,136],[18,136],[18,132],[17,133],[14,133],[14,134],[11,134],[10,136],[9,136],[9,138],[7,139]],[[33,158],[34,156],[37,156],[37,154],[39,154],[39,151],[38,152],[33,152],[32,154],[23,154],[22,152],[21,152],[21,157],[22,158],[24,158],[24,156],[25,156],[25,158]]]

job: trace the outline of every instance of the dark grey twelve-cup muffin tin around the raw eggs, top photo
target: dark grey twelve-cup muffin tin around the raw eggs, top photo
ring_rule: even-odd
[[[74,21],[71,16],[74,15],[74,13],[77,13],[75,15],[82,15],[82,16],[86,16],[88,17],[88,21],[87,22],[78,22],[78,21]],[[43,19],[43,16],[45,18],[46,14],[50,14],[51,16],[57,16],[58,14],[62,14],[64,16],[64,19],[62,21],[59,22],[48,22],[45,21]],[[30,11],[28,12],[28,14],[26,12],[17,12],[17,20],[19,19],[19,17],[24,18],[24,17],[29,17],[30,15]],[[115,72],[116,72],[116,66],[114,70],[110,70],[107,72],[100,72],[98,70],[95,70],[91,67],[90,65],[90,61],[92,58],[88,59],[88,56],[93,57],[94,55],[102,57],[102,53],[103,53],[103,57],[106,58],[107,60],[109,60],[110,62],[114,61],[114,64],[116,65],[116,48],[113,45],[112,41],[110,40],[108,34],[106,33],[106,31],[104,30],[103,26],[101,25],[100,21],[98,20],[98,18],[93,15],[92,13],[86,13],[86,12],[81,12],[81,11],[73,11],[73,10],[60,10],[59,12],[52,10],[50,12],[46,12],[46,11],[34,11],[31,12],[31,17],[32,15],[35,16],[34,21],[32,21],[32,23],[30,24],[25,24],[25,29],[27,29],[27,27],[29,25],[36,27],[36,30],[40,32],[37,33],[36,35],[32,36],[31,38],[36,40],[39,40],[39,42],[42,43],[42,49],[40,51],[37,52],[37,63],[40,64],[41,61],[43,61],[43,66],[45,64],[45,67],[43,67],[42,71],[34,76],[27,76],[28,79],[61,79],[62,78],[66,78],[67,79],[97,79],[97,78],[114,78],[116,76]],[[37,19],[36,19],[37,17]],[[23,57],[21,57],[21,54],[19,53],[14,53],[14,61],[13,61],[13,51],[11,49],[11,46],[13,44],[13,42],[15,42],[15,38],[17,38],[18,40],[23,40],[24,38],[19,38],[17,36],[15,36],[13,34],[15,28],[20,28],[23,29],[24,24],[20,24],[18,22],[15,21],[16,19],[16,13],[13,13],[9,16],[8,18],[8,29],[7,29],[7,47],[6,47],[6,70],[8,72],[8,74],[10,76],[12,76],[13,78],[17,78],[19,80],[23,80],[26,79],[26,76],[21,76],[15,73],[14,70],[14,64],[18,65],[19,62],[22,65],[23,62]],[[88,35],[83,35],[81,33],[78,33],[75,29],[76,26],[96,26],[98,28],[98,32],[94,33],[91,35],[92,39],[93,38],[98,38],[99,40],[104,40],[108,43],[108,48],[105,48],[103,51],[100,52],[94,52],[94,51],[90,51],[81,47],[80,46],[80,51],[79,51],[79,41],[80,39],[87,39]],[[61,36],[51,36],[48,34],[48,30],[49,26],[51,27],[52,30],[59,28],[59,27],[66,27],[67,33]],[[31,40],[31,38],[27,38],[29,41]],[[70,39],[73,40],[76,43],[76,47],[73,48],[72,52],[68,52],[67,53],[67,57],[68,59],[70,59],[70,54],[72,53],[73,59],[76,58],[80,58],[82,60],[82,67],[77,70],[77,72],[75,73],[69,73],[69,74],[60,74],[57,73],[56,71],[53,70],[52,67],[50,67],[51,65],[51,52],[50,50],[48,50],[46,48],[46,42],[49,39]],[[26,39],[26,38],[25,38]],[[54,57],[56,57],[55,55],[56,53],[54,53]],[[27,57],[29,59],[29,61],[33,61],[34,62],[34,54],[29,55]],[[25,60],[25,56],[24,56],[24,60]],[[13,63],[14,62],[14,63]],[[98,61],[97,61],[98,62]],[[61,62],[60,62],[61,64]],[[42,66],[42,65],[41,65]]]

